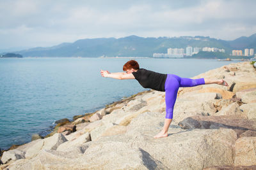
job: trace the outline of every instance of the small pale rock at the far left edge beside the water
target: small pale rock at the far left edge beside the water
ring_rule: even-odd
[[[1,161],[3,164],[6,164],[10,160],[18,160],[18,159],[24,159],[25,158],[25,152],[21,152],[19,150],[8,150],[3,153],[3,156],[1,158]]]

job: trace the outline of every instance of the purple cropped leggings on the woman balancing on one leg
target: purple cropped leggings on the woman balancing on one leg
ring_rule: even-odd
[[[180,78],[175,74],[168,74],[164,89],[165,89],[165,103],[166,103],[166,116],[165,118],[173,117],[173,108],[177,98],[179,87],[193,87],[196,85],[204,85],[204,78],[191,79]]]

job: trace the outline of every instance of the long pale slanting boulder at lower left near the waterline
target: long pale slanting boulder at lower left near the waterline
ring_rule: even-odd
[[[31,146],[25,154],[26,158],[35,157],[40,150],[56,150],[61,143],[65,143],[67,139],[63,136],[63,134],[54,134],[49,138],[42,139],[35,143],[35,145]]]

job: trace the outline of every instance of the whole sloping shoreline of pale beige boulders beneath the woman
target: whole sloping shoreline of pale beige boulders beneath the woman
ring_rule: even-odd
[[[229,87],[180,88],[167,138],[153,138],[164,92],[148,90],[60,120],[47,138],[4,152],[0,169],[256,169],[256,69],[232,63],[202,77]]]

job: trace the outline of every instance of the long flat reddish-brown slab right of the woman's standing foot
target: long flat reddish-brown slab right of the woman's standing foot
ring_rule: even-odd
[[[193,116],[179,122],[182,129],[238,129],[256,131],[256,121],[237,118],[236,116]]]

